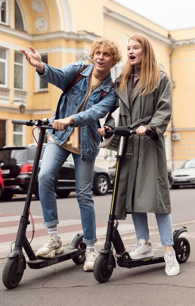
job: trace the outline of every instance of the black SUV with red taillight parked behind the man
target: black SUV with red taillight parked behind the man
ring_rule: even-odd
[[[41,160],[45,149],[40,158]],[[30,144],[22,147],[0,148],[0,160],[2,160],[2,176],[4,178],[4,193],[2,200],[10,200],[14,194],[27,194],[27,189],[32,173],[33,162],[37,146]],[[110,177],[105,169],[95,167],[92,191],[97,196],[104,196],[111,188]],[[39,198],[38,182],[36,179],[33,194]],[[69,155],[55,181],[55,192],[58,197],[67,197],[71,191],[75,191],[75,169],[72,155]]]

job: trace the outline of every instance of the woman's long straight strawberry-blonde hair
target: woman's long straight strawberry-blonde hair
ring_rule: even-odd
[[[133,35],[130,37],[129,41],[130,40],[140,43],[143,50],[140,79],[134,93],[139,93],[139,95],[147,95],[155,90],[160,77],[160,70],[157,65],[154,50],[150,40],[142,34]],[[128,59],[119,76],[122,78],[120,83],[121,92],[124,92],[129,76],[133,70],[134,66],[130,64]],[[144,86],[145,88],[142,91]]]

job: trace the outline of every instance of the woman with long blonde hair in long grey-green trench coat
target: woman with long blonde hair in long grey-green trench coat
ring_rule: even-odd
[[[117,219],[131,214],[137,243],[132,259],[154,256],[149,242],[147,213],[155,213],[161,243],[164,246],[165,272],[179,274],[173,249],[173,226],[164,132],[171,119],[172,87],[166,73],[158,66],[150,40],[133,35],[127,46],[128,61],[115,81],[119,107],[119,125],[130,126],[132,135],[125,145],[117,195]],[[113,109],[114,110],[114,109]],[[112,115],[99,133],[114,129]],[[140,137],[138,137],[138,135]]]

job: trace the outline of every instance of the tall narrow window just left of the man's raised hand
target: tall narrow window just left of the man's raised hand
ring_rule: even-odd
[[[14,87],[23,89],[23,54],[14,54]]]

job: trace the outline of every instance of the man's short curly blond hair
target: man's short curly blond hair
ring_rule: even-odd
[[[99,37],[96,41],[92,43],[91,49],[89,51],[89,56],[91,60],[93,60],[95,50],[99,48],[100,46],[103,46],[104,48],[111,51],[114,62],[115,62],[113,66],[115,66],[117,63],[119,63],[122,60],[122,53],[121,53],[121,50],[118,44],[116,42],[112,42],[103,37]]]

